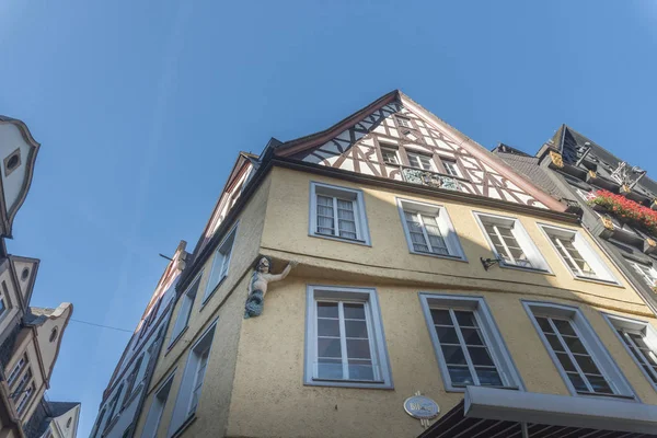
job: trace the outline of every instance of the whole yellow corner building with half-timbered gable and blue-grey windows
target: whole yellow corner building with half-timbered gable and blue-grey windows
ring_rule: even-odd
[[[657,321],[623,274],[565,206],[402,93],[342,124],[385,107],[360,137],[338,124],[240,157],[135,436],[649,436]],[[429,124],[453,153],[420,153]],[[372,139],[360,161],[384,175],[316,152],[341,136],[342,158]],[[298,265],[244,318],[263,256]]]

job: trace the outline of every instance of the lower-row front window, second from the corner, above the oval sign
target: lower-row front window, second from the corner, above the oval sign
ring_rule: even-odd
[[[466,385],[522,388],[483,298],[437,293],[419,298],[448,391]]]

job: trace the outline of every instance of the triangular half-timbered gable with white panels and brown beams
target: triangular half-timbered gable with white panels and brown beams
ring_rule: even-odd
[[[562,209],[483,147],[399,91],[323,132],[284,143],[276,154],[377,177]]]

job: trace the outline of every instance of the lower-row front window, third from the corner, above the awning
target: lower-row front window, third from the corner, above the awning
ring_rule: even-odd
[[[634,397],[632,388],[581,312],[525,302],[532,322],[573,394]]]

